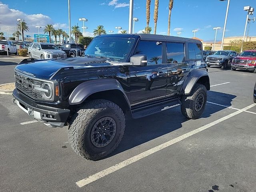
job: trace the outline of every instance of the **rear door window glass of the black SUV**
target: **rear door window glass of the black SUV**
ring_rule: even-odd
[[[183,43],[166,43],[167,63],[185,62],[184,44]]]

